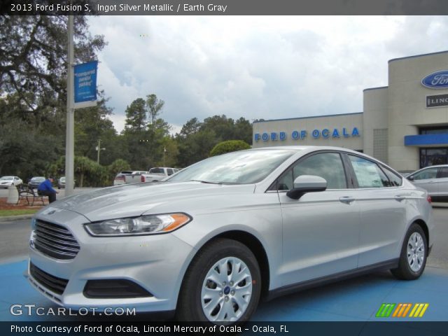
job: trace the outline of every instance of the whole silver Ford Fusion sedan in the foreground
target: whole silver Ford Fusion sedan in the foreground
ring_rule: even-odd
[[[374,158],[251,149],[53,202],[32,220],[28,279],[72,309],[239,323],[260,297],[377,269],[417,279],[433,228],[426,191]]]

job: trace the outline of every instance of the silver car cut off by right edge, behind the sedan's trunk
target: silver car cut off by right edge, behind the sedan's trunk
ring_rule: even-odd
[[[425,167],[409,174],[406,179],[427,190],[434,202],[448,202],[448,165]]]

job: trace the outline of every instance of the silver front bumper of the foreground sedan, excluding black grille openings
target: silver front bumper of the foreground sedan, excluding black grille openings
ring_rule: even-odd
[[[37,218],[64,226],[80,249],[71,260],[57,260],[38,251],[30,242],[27,277],[31,286],[53,302],[71,309],[81,307],[130,307],[137,311],[170,311],[176,308],[183,274],[193,248],[171,234],[134,237],[92,237],[83,228],[87,218],[73,211],[46,209]],[[31,275],[30,265],[55,278],[66,279],[61,293]],[[147,290],[149,297],[88,298],[89,280],[125,279]]]

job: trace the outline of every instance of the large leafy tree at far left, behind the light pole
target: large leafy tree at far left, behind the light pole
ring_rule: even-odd
[[[43,175],[64,153],[66,24],[62,16],[0,15],[0,169],[8,174]],[[97,58],[103,36],[91,36],[81,15],[74,27],[75,62]]]

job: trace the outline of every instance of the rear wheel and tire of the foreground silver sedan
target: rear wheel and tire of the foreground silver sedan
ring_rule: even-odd
[[[413,223],[403,241],[398,268],[391,269],[391,272],[397,279],[419,279],[425,269],[427,257],[428,238],[420,225]]]

